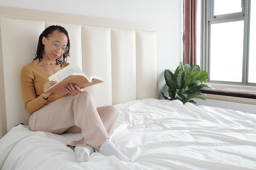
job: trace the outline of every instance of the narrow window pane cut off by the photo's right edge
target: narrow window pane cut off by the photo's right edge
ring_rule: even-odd
[[[249,75],[248,82],[256,83],[256,1],[251,1],[251,23],[250,23],[250,44],[249,44]]]

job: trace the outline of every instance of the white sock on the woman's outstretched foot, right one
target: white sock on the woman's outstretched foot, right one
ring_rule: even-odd
[[[103,144],[101,144],[101,146],[99,147],[99,153],[107,157],[114,155],[120,161],[132,162],[130,158],[126,157],[122,152],[120,152],[120,150],[115,147],[110,139],[107,139],[103,142]]]

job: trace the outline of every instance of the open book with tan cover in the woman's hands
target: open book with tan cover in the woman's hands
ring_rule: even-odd
[[[48,88],[44,93],[56,93],[60,96],[67,95],[65,86],[69,83],[75,83],[82,88],[103,82],[103,80],[97,76],[88,78],[76,64],[70,64],[57,73],[54,73],[49,77],[49,81],[55,81],[57,83]]]

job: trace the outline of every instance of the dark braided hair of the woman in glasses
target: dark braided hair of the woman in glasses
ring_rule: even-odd
[[[37,51],[36,51],[36,58],[34,58],[33,60],[38,59],[39,62],[41,62],[43,60],[44,44],[42,42],[42,38],[43,37],[48,38],[49,35],[51,35],[53,33],[53,31],[59,31],[60,33],[64,33],[67,36],[67,47],[70,49],[70,39],[68,37],[67,30],[65,28],[63,28],[62,26],[52,25],[52,26],[47,27],[40,34],[39,40],[38,40]],[[57,58],[56,62],[57,63],[61,62],[63,64],[64,62],[67,61],[67,57],[70,57],[70,51],[67,51],[61,57]]]

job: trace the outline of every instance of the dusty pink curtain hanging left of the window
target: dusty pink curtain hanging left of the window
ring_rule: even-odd
[[[183,63],[196,64],[197,0],[183,0]]]

